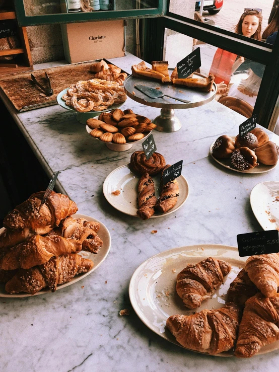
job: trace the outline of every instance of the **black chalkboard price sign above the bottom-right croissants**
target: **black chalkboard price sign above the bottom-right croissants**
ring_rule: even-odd
[[[279,232],[277,230],[237,235],[240,257],[279,252]]]

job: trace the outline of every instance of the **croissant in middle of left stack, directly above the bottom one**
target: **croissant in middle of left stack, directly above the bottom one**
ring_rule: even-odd
[[[0,261],[3,270],[30,269],[50,260],[52,256],[76,253],[82,250],[82,243],[75,239],[64,239],[52,235],[33,235],[25,242],[13,247]]]

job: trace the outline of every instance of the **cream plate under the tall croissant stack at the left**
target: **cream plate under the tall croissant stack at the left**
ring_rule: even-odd
[[[85,276],[91,274],[94,270],[96,270],[102,262],[105,260],[105,258],[108,255],[108,252],[110,250],[110,245],[111,245],[111,239],[110,239],[110,234],[108,229],[105,227],[105,225],[102,224],[102,222],[98,221],[98,219],[95,219],[93,217],[90,217],[86,214],[73,214],[73,217],[75,218],[85,218],[88,221],[95,221],[99,222],[100,224],[100,229],[98,231],[98,236],[102,239],[103,241],[103,246],[100,248],[100,251],[97,254],[90,253],[90,252],[85,252],[81,251],[79,254],[83,256],[84,258],[89,258],[94,262],[94,266],[92,267],[91,270],[88,272],[85,272],[84,274],[80,274],[77,276],[74,276],[74,278],[64,284],[57,285],[56,290],[67,287],[68,285],[74,284],[77,281],[83,279]],[[0,229],[0,234],[3,232],[4,228]],[[15,294],[9,294],[5,290],[5,284],[0,283],[0,297],[28,297],[28,296],[35,296],[37,294],[44,294],[44,293],[52,293],[50,289],[41,289],[39,292],[35,294],[30,294],[30,293],[15,293]]]

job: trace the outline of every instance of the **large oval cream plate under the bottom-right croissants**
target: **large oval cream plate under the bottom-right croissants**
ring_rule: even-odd
[[[231,272],[225,278],[224,284],[211,299],[203,301],[198,309],[187,310],[180,297],[176,294],[177,274],[189,263],[196,264],[207,257],[225,260],[232,265]],[[129,285],[129,297],[137,316],[153,332],[164,339],[181,346],[165,329],[166,321],[171,315],[191,315],[193,311],[203,309],[218,309],[224,306],[226,293],[230,283],[244,267],[246,258],[239,257],[235,247],[204,244],[174,248],[149,258],[133,273]],[[174,270],[176,270],[174,272]],[[264,354],[279,348],[279,341],[264,346],[258,354]],[[192,350],[193,351],[193,350]],[[233,356],[230,351],[216,356]]]

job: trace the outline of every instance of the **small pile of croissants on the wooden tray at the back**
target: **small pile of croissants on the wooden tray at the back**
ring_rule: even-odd
[[[124,84],[127,78],[125,72],[121,72],[121,68],[105,62],[103,59],[100,62],[95,62],[91,65],[90,71],[93,72],[94,79],[107,80],[108,82],[117,82],[119,85]]]

